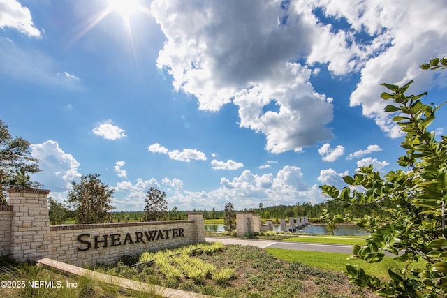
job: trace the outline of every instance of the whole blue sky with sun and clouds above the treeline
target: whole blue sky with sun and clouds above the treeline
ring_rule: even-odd
[[[445,20],[441,0],[0,0],[0,119],[60,202],[93,173],[117,211],[151,186],[170,209],[323,202],[398,168],[382,82],[444,100],[447,72],[418,66],[446,55]]]

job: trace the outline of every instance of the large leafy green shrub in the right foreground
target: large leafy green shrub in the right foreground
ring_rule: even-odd
[[[432,59],[423,69],[446,68],[447,59]],[[365,246],[353,246],[355,258],[381,262],[384,252],[406,263],[389,268],[390,280],[381,281],[352,265],[346,265],[351,282],[376,290],[383,297],[445,297],[447,294],[447,137],[437,140],[428,126],[441,105],[424,104],[424,94],[406,96],[410,84],[398,87],[383,84],[389,91],[381,98],[393,100],[386,112],[397,112],[393,121],[405,133],[401,147],[406,149],[397,163],[404,170],[390,171],[381,177],[372,166],[360,167],[353,177],[346,176],[346,186],[321,186],[323,193],[347,205],[377,204],[386,206],[381,216],[365,214],[346,218],[369,230]],[[358,191],[352,186],[362,186]],[[416,265],[415,265],[416,264]]]

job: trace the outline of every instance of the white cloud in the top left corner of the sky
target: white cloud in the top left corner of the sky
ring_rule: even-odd
[[[41,37],[41,32],[34,27],[29,8],[22,6],[19,1],[0,1],[0,28],[10,27],[30,37]]]

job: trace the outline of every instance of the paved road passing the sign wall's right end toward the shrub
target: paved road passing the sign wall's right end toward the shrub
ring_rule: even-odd
[[[237,238],[212,238],[207,237],[207,241],[219,241],[223,244],[241,244],[258,246],[261,248],[284,248],[295,251],[323,251],[326,253],[352,253],[351,245],[338,244],[312,244],[300,242],[287,241],[268,241],[268,240],[252,240],[252,239],[237,239]]]

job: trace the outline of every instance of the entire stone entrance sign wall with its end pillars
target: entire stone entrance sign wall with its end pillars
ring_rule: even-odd
[[[52,258],[72,265],[110,264],[122,255],[205,241],[203,214],[187,221],[50,226],[47,195],[10,188],[11,206],[0,209],[0,253],[16,260]]]

